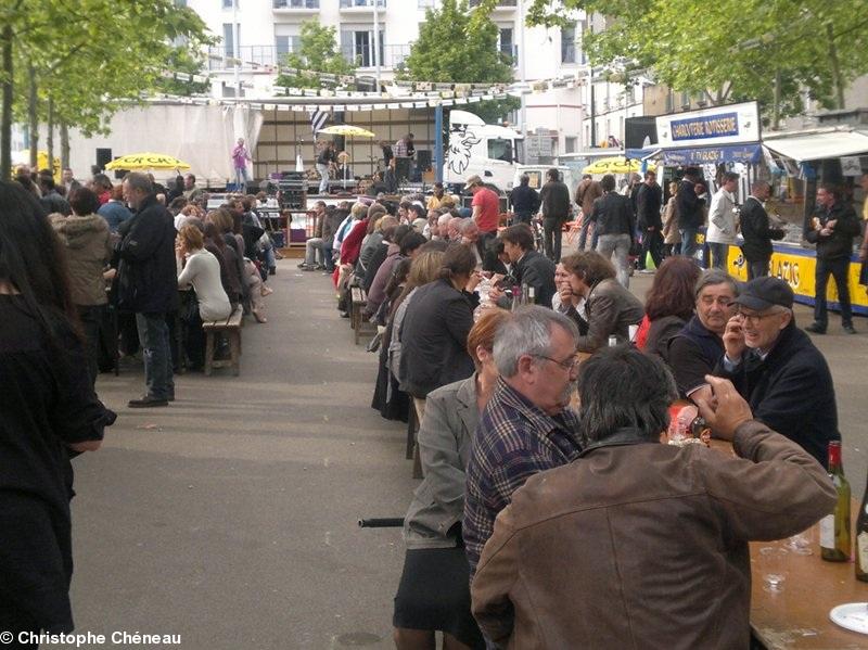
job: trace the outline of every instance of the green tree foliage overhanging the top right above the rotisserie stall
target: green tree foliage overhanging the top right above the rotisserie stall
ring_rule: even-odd
[[[768,114],[796,114],[805,88],[821,105],[844,107],[844,87],[868,72],[868,0],[559,4],[556,11],[550,0],[533,0],[528,24],[563,25],[571,10],[602,14],[607,29],[584,36],[593,65],[628,61],[712,104],[757,99]]]

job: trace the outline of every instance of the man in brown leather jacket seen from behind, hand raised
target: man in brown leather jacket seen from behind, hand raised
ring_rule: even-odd
[[[748,543],[807,528],[835,492],[732,384],[707,381],[716,402],[700,410],[735,455],[665,444],[676,391],[654,355],[617,346],[583,361],[588,447],[527,479],[498,515],[471,587],[486,637],[522,649],[749,647]]]

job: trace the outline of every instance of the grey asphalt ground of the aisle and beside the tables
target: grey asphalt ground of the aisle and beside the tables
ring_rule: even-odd
[[[354,345],[331,280],[296,262],[269,280],[268,323],[245,323],[240,377],[177,377],[177,402],[140,410],[126,407],[142,393],[140,365],[100,377],[118,420],[74,461],[78,634],[180,635],[175,647],[194,650],[394,647],[400,531],[356,522],[406,511],[417,482],[405,425],[370,408],[375,355]],[[650,283],[636,276],[631,289],[643,297]],[[856,328],[845,335],[832,317],[815,341],[860,496],[868,322]],[[80,647],[106,645],[162,647]]]

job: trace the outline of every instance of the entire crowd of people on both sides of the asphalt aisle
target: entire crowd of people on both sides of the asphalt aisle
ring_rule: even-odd
[[[128,406],[166,406],[178,359],[202,361],[202,322],[237,309],[265,322],[276,271],[256,196],[206,211],[192,175],[168,189],[138,173],[118,187],[64,179],[61,190],[22,168],[0,182],[0,390],[11,396],[0,403],[0,628],[13,633],[72,629],[69,458],[97,449],[115,419],[94,392],[108,306],[132,326],[110,346],[133,334],[143,351],[146,392]],[[563,257],[551,186],[527,204],[552,219],[541,241],[524,211],[503,227],[476,176],[470,208],[442,186],[394,203],[315,204],[299,266],[331,277],[342,317],[353,289],[366,292],[378,326],[371,406],[419,422],[398,648],[434,648],[437,632],[449,649],[748,645],[748,543],[831,511],[824,468],[841,434],[831,373],[796,327],[790,285],[768,277],[767,259],[737,282],[724,248],[713,268],[698,265],[694,180],[669,215],[653,175],[638,211],[614,178],[583,180],[576,202],[593,225],[583,235],[597,246],[579,241]],[[732,181],[709,209],[724,239],[729,215],[715,219],[731,196],[718,194]],[[770,240],[762,183],[752,197]],[[833,197],[818,203],[812,232],[834,259],[848,214]],[[667,226],[681,247],[664,256]],[[654,233],[648,253],[660,254],[644,301],[622,266],[637,230]],[[678,399],[735,455],[671,438]]]

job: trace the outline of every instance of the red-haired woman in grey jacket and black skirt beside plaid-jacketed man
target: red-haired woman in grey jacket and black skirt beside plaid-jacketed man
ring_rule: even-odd
[[[425,477],[404,520],[407,553],[393,617],[398,650],[434,648],[436,630],[444,635],[445,649],[485,648],[470,613],[461,518],[473,432],[497,384],[495,333],[507,318],[502,309],[486,309],[468,334],[475,372],[427,396],[419,428]]]

